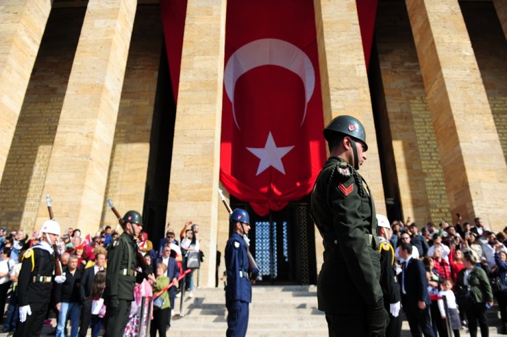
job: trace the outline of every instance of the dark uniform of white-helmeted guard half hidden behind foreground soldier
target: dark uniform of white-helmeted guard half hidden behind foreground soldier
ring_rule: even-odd
[[[380,255],[382,255],[382,277],[380,278],[380,286],[384,294],[384,308],[389,312],[392,303],[401,301],[399,295],[399,284],[396,278],[395,253],[393,246],[382,236],[380,240]],[[397,337],[401,335],[401,317],[394,317],[389,314],[389,324],[386,329],[386,336]]]

